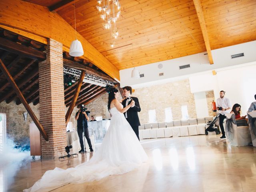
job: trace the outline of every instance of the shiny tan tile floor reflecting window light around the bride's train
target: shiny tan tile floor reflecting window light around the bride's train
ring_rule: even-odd
[[[233,147],[216,135],[142,140],[149,156],[139,169],[100,181],[68,184],[54,192],[253,192],[256,191],[256,148]],[[96,146],[96,150],[100,145]],[[25,161],[2,172],[0,192],[29,188],[46,170],[87,161],[78,158]],[[1,173],[0,173],[1,174]]]

